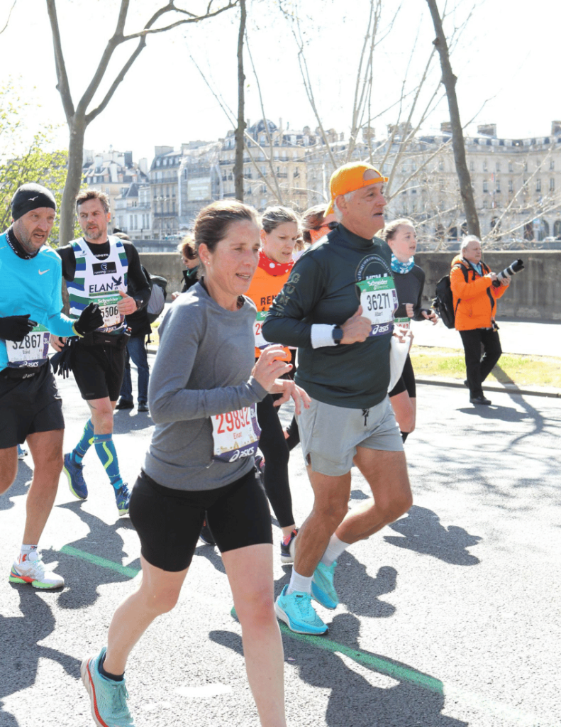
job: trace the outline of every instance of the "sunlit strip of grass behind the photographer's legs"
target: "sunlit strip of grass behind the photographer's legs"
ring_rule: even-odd
[[[417,346],[411,351],[411,361],[413,369],[419,376],[444,377],[461,381],[466,377],[463,351]],[[561,358],[504,353],[488,380],[498,381],[501,384],[561,389]]]

